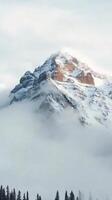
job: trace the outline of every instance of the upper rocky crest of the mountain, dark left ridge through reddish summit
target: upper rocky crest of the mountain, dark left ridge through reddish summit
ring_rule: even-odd
[[[59,82],[69,82],[72,78],[83,84],[95,85],[94,77],[85,64],[71,55],[59,53],[47,59],[33,73],[27,71],[21,77],[19,84],[11,91],[12,96],[14,96],[13,100],[18,101],[26,98],[31,88],[37,88],[48,77]]]

